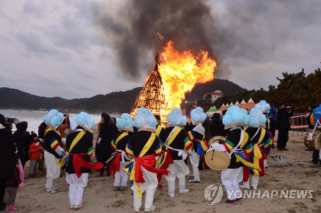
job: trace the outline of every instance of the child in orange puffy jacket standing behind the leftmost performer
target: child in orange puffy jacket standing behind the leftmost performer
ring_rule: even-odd
[[[34,168],[37,168],[38,160],[41,158],[41,153],[39,148],[39,140],[36,133],[31,134],[32,142],[29,145],[29,177],[37,177],[37,174],[34,174]]]

